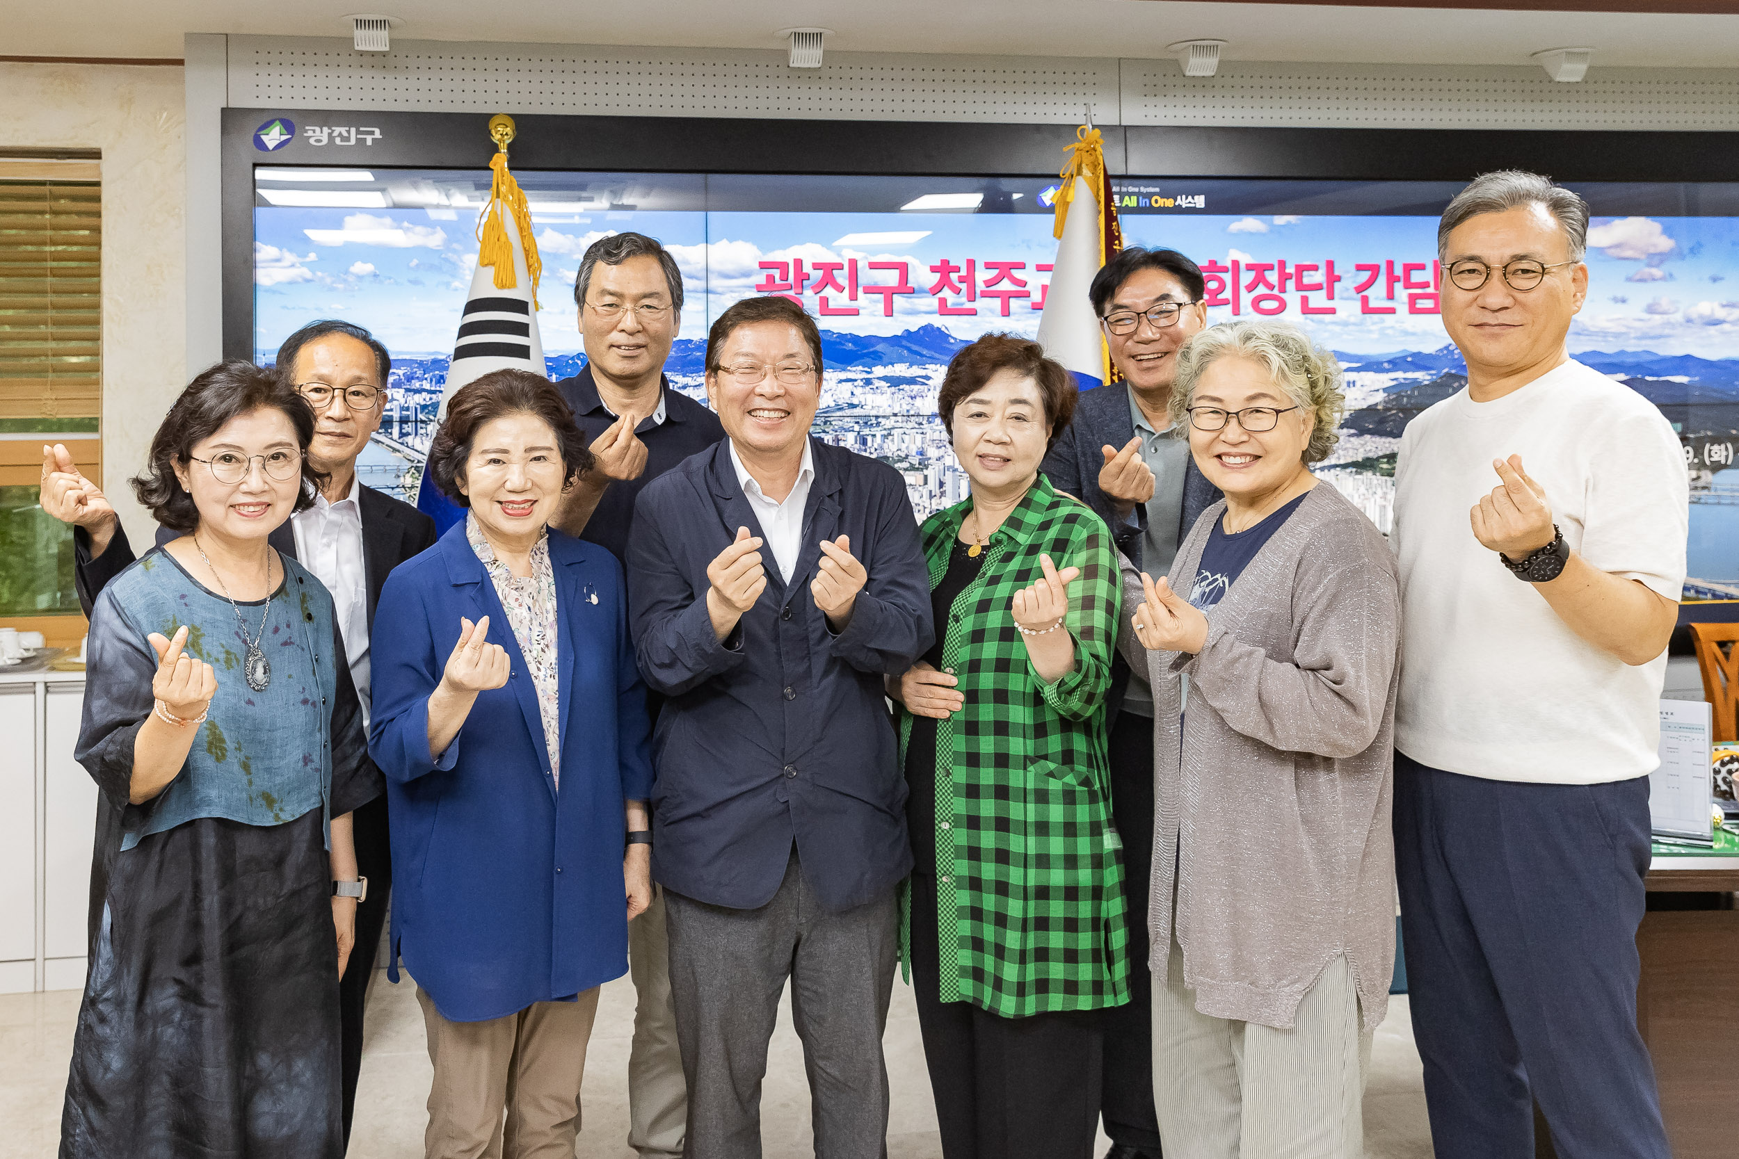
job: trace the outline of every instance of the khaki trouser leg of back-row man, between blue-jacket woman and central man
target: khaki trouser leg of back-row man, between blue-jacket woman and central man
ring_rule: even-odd
[[[628,923],[628,973],[635,982],[635,1039],[628,1051],[628,1145],[640,1159],[678,1159],[689,1086],[676,1048],[676,1013],[670,1004],[670,938],[664,890]]]

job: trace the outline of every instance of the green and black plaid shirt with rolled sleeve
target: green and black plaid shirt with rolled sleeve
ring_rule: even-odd
[[[948,572],[972,500],[925,520],[930,587]],[[1069,584],[1075,671],[1043,683],[1010,610],[1049,554]],[[1129,1001],[1123,869],[1106,777],[1104,700],[1116,641],[1118,565],[1094,511],[1043,474],[989,537],[955,599],[943,669],[965,707],[936,730],[941,997],[1019,1018]],[[901,766],[911,716],[901,711]],[[953,935],[949,937],[949,924]]]

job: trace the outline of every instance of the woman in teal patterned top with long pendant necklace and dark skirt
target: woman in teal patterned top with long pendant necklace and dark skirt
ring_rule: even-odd
[[[311,436],[294,389],[228,361],[176,400],[134,480],[183,535],[90,613],[77,758],[104,905],[63,1159],[344,1154],[350,811],[381,778],[332,598],[266,542],[313,502]]]

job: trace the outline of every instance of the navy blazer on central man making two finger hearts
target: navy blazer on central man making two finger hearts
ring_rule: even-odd
[[[911,871],[882,676],[904,672],[932,641],[918,523],[894,467],[819,440],[810,452],[791,582],[763,549],[767,591],[723,641],[706,613],[706,565],[739,527],[762,533],[729,440],[647,483],[635,507],[635,645],[647,683],[670,697],[652,740],[652,871],[713,905],[765,905],[793,841],[835,912]],[[809,584],[821,540],[840,535],[870,579],[835,634]]]

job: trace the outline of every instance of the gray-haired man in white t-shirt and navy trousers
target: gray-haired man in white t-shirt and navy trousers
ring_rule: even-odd
[[[1685,579],[1671,426],[1565,348],[1588,205],[1478,177],[1438,226],[1468,386],[1395,469],[1405,645],[1395,855],[1440,1159],[1666,1159],[1636,1032],[1666,641]]]

